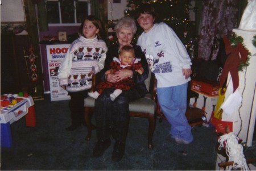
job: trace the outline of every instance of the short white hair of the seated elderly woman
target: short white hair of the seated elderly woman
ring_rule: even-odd
[[[137,31],[135,19],[131,18],[130,16],[124,16],[123,18],[119,19],[117,24],[115,25],[114,30],[118,34],[121,28],[133,30],[134,35]]]

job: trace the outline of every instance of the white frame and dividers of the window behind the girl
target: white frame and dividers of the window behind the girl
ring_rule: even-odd
[[[59,18],[60,18],[60,23],[48,23],[48,26],[80,26],[81,23],[76,23],[77,22],[77,14],[76,14],[76,0],[73,0],[74,2],[74,6],[75,6],[75,23],[62,23],[62,19],[61,19],[61,7],[60,7],[60,1],[59,0],[47,0],[48,1],[53,1],[53,2],[58,2],[58,7],[59,7]],[[91,14],[91,3],[90,0],[77,0],[80,2],[87,2],[88,3],[88,15]]]

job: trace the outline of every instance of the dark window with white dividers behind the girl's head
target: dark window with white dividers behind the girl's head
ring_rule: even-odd
[[[90,15],[88,0],[48,0],[46,3],[49,26],[80,24]]]

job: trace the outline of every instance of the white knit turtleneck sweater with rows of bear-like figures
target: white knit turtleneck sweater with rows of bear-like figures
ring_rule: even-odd
[[[60,86],[67,86],[69,92],[82,91],[92,87],[92,75],[104,68],[108,47],[103,40],[79,37],[68,48],[67,56],[58,70]]]

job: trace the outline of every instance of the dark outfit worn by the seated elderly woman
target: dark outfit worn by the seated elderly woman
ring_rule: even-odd
[[[109,47],[105,60],[104,69],[100,75],[101,80],[105,80],[105,72],[110,69],[110,63],[114,57],[118,57],[119,46]],[[110,135],[115,139],[112,160],[122,159],[125,151],[125,141],[129,129],[129,102],[142,98],[147,93],[144,81],[148,77],[148,64],[141,47],[134,45],[135,57],[141,59],[143,74],[133,72],[135,86],[130,90],[123,91],[114,101],[110,99],[110,94],[114,89],[105,89],[95,101],[94,118],[97,127],[98,142],[93,149],[93,156],[100,157],[110,146]]]

